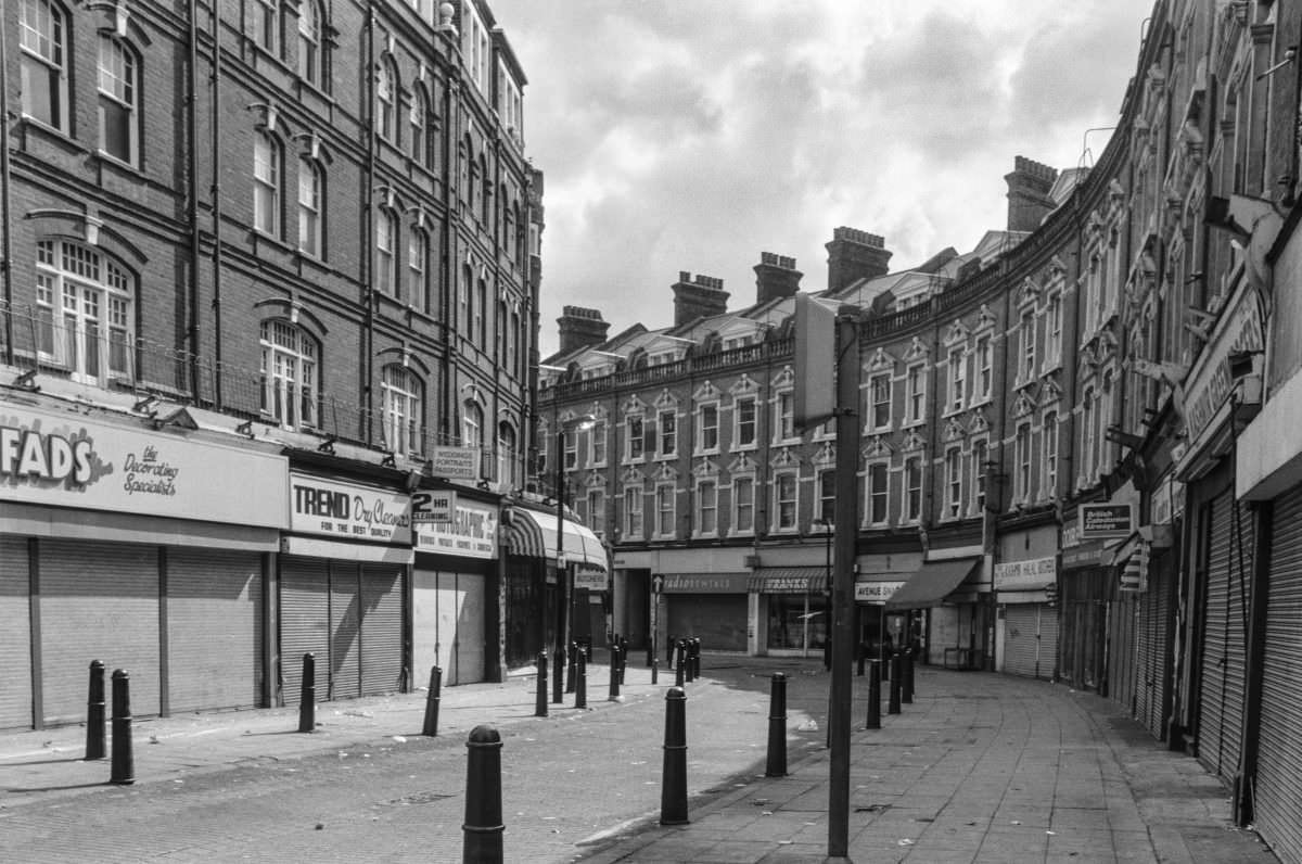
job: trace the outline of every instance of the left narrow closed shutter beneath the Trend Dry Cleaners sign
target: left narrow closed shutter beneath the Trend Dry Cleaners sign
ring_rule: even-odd
[[[298,705],[303,654],[314,654],[316,700],[328,697],[329,567],[315,558],[280,559],[280,679],[285,705]]]

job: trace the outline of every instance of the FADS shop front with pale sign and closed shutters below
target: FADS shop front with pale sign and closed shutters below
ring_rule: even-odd
[[[137,715],[270,704],[286,461],[223,438],[0,397],[0,727],[83,721],[92,659],[130,674]]]

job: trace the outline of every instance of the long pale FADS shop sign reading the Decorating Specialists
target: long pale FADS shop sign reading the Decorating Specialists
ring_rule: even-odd
[[[176,433],[0,407],[4,500],[284,528],[288,467]]]

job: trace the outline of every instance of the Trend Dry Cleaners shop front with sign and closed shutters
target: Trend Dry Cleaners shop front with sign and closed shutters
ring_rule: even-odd
[[[289,500],[279,559],[279,704],[298,704],[309,652],[318,698],[409,689],[410,495],[292,468]]]

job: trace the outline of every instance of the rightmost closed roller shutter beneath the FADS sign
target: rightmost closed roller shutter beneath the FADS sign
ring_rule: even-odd
[[[262,556],[168,549],[172,712],[254,708],[262,693]]]

